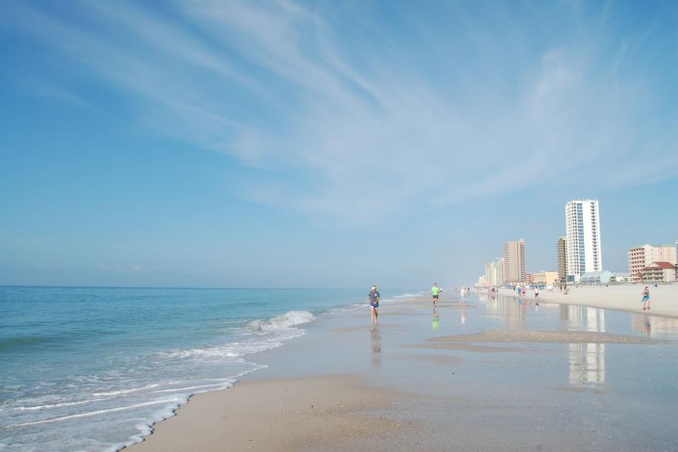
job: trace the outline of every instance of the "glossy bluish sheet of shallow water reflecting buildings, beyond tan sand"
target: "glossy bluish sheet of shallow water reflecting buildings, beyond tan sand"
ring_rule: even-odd
[[[677,450],[677,319],[471,295],[466,307],[421,299],[384,306],[377,326],[356,311],[307,332],[258,357],[270,367],[254,379],[358,374],[412,393],[415,405],[374,414],[422,422],[411,441],[426,450]]]

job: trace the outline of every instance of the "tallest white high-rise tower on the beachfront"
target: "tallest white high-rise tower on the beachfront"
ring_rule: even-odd
[[[584,273],[602,271],[600,213],[597,199],[565,204],[567,280],[577,283]]]

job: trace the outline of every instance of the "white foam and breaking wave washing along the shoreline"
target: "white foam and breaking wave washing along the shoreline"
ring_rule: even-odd
[[[137,376],[134,373],[129,374],[125,369],[113,369],[110,373],[96,376],[83,376],[81,390],[68,397],[66,393],[60,392],[58,397],[55,397],[57,396],[55,394],[16,400],[18,404],[7,407],[17,413],[15,422],[1,428],[12,431],[27,429],[20,435],[28,437],[40,434],[42,429],[53,429],[54,427],[47,425],[54,423],[63,422],[69,426],[67,428],[73,428],[75,427],[73,422],[80,422],[83,428],[89,426],[86,428],[96,429],[97,427],[92,426],[107,424],[122,427],[129,421],[136,420],[135,424],[127,425],[128,428],[135,427],[137,432],[124,441],[109,442],[114,438],[113,430],[110,432],[107,430],[107,438],[102,436],[97,440],[102,441],[97,450],[118,451],[143,441],[143,436],[153,432],[152,426],[155,422],[174,415],[174,412],[194,394],[231,388],[242,376],[266,368],[248,362],[242,357],[280,347],[287,340],[304,335],[304,330],[299,326],[315,319],[316,316],[309,311],[288,311],[266,321],[255,320],[244,326],[231,328],[234,340],[222,345],[153,352],[136,357],[133,365],[137,365],[138,362],[143,367],[155,367],[159,371],[158,375],[179,375],[181,378],[165,379],[155,383],[148,381],[150,375]],[[213,369],[218,369],[217,373],[213,373],[215,371]],[[222,372],[225,378],[210,378],[210,373],[215,376],[219,372]],[[106,383],[105,386],[102,383]],[[77,389],[72,384],[67,387]],[[85,408],[86,406],[88,408]],[[157,410],[153,409],[155,406]],[[91,420],[78,421],[83,418]],[[76,443],[71,444],[69,439],[64,440],[62,446],[80,447],[76,446]]]

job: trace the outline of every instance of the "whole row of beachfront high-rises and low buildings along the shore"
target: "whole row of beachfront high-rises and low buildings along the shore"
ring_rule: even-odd
[[[678,280],[678,240],[629,249],[629,273],[603,270],[598,200],[576,199],[565,204],[565,235],[556,242],[556,264],[556,270],[528,273],[525,239],[505,242],[503,254],[485,264],[477,286],[670,283]]]

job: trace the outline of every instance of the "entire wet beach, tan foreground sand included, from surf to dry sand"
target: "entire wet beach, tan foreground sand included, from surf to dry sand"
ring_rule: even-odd
[[[306,328],[248,357],[268,369],[194,396],[129,449],[675,450],[675,319],[472,295]]]

